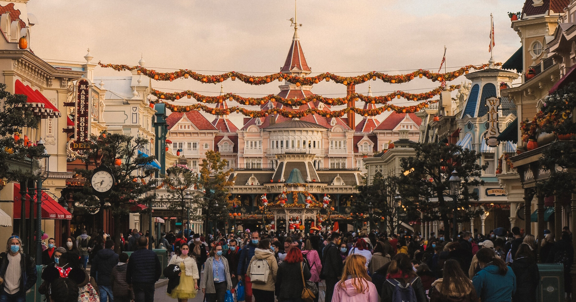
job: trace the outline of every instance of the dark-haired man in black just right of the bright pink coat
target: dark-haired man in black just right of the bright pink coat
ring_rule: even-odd
[[[323,278],[326,281],[325,301],[332,301],[334,286],[338,281],[340,281],[340,277],[342,277],[342,269],[344,268],[342,256],[340,256],[340,247],[338,245],[340,234],[332,232],[330,237],[331,241],[324,248],[321,258],[322,270],[320,272],[320,278]]]

